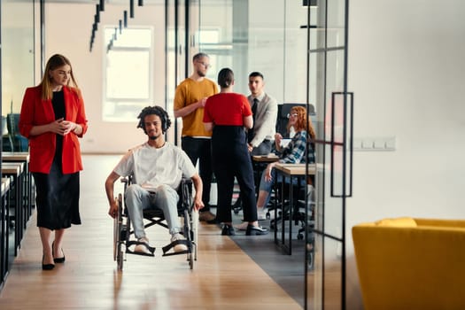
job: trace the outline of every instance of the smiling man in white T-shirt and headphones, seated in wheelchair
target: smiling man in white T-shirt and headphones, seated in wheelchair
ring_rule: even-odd
[[[132,182],[125,192],[129,219],[134,227],[137,239],[134,252],[142,255],[152,255],[149,240],[145,235],[143,225],[143,209],[159,208],[167,220],[171,243],[174,252],[188,250],[182,236],[181,221],[178,217],[176,191],[182,177],[190,178],[195,188],[194,208],[201,209],[202,180],[192,165],[187,154],[172,143],[165,140],[165,133],[171,125],[167,112],[160,106],[147,106],[137,117],[137,128],[143,128],[148,136],[147,142],[129,150],[114,167],[105,182],[106,196],[110,204],[108,213],[112,218],[118,214],[118,204],[114,199],[114,182],[120,177],[131,175]]]

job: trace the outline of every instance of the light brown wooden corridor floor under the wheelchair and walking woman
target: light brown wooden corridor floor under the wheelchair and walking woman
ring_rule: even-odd
[[[200,225],[194,270],[183,255],[161,257],[169,235],[158,227],[147,230],[155,258],[129,255],[118,272],[104,182],[119,158],[84,156],[82,225],[66,231],[66,262],[51,271],[41,267],[33,214],[0,292],[0,309],[301,309],[215,225]]]

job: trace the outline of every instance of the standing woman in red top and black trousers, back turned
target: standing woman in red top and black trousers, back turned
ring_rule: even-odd
[[[218,185],[218,209],[216,220],[223,223],[221,235],[235,235],[231,217],[231,199],[234,178],[241,190],[244,206],[244,221],[248,221],[247,236],[265,235],[257,221],[255,186],[252,161],[247,149],[245,128],[252,128],[252,111],[244,95],[232,91],[234,74],[229,68],[218,74],[219,94],[208,97],[205,103],[204,125],[213,130],[212,159],[213,172]]]

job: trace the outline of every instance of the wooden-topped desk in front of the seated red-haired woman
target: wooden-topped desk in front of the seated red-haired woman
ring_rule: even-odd
[[[281,181],[281,192],[284,192],[284,184],[286,179],[289,179],[289,244],[286,244],[285,241],[285,227],[286,220],[284,219],[284,198],[281,198],[281,210],[283,212],[283,219],[281,221],[281,240],[278,238],[278,229],[275,222],[275,244],[280,245],[283,249],[283,252],[291,255],[292,254],[292,221],[293,221],[293,208],[294,208],[294,198],[293,198],[293,180],[297,178],[298,188],[300,187],[300,180],[306,178],[308,175],[314,175],[316,173],[316,166],[311,164],[308,166],[308,174],[306,174],[306,164],[282,164],[278,163],[275,165],[275,190],[278,186],[279,175],[283,175],[283,180]],[[277,219],[277,202],[275,202],[275,219]]]

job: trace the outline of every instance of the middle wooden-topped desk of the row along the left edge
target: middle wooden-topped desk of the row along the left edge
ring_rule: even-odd
[[[14,218],[9,216],[9,220],[14,219],[14,255],[18,254],[19,245],[23,236],[23,231],[26,228],[24,225],[23,215],[23,176],[24,176],[24,163],[17,162],[3,162],[2,175],[12,177],[11,187],[14,187]]]

